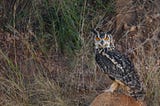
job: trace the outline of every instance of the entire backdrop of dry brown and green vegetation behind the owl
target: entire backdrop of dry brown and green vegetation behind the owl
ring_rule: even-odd
[[[96,27],[112,30],[159,106],[160,2],[109,1],[0,1],[0,105],[88,106],[111,82],[94,61]]]

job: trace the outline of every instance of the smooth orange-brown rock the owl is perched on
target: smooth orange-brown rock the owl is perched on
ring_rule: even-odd
[[[144,102],[136,101],[130,96],[117,93],[102,93],[90,106],[146,106]]]

